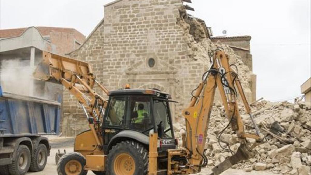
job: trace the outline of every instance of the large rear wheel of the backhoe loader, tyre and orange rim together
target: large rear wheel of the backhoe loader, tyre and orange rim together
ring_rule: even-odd
[[[135,141],[122,141],[112,147],[106,162],[109,175],[145,175],[148,172],[148,151]]]

